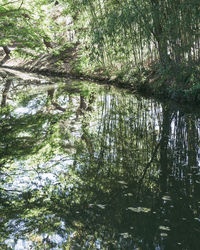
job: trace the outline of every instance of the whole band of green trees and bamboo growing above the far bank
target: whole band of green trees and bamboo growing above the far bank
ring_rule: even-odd
[[[142,89],[156,82],[154,91],[184,89],[199,99],[199,13],[199,0],[3,0],[0,46],[63,54],[66,44],[78,43],[81,73]]]

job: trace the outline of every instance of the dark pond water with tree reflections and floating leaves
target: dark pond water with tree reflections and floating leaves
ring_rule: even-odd
[[[12,73],[0,80],[0,249],[200,249],[200,111]]]

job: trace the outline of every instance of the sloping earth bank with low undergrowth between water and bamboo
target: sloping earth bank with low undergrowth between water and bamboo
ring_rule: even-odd
[[[0,60],[3,60],[2,54]],[[1,66],[45,75],[109,82],[162,100],[200,104],[200,69],[197,66],[181,68],[175,65],[164,69],[155,63],[121,71],[91,65],[86,67],[83,66],[79,46],[68,46],[29,59],[11,56]]]

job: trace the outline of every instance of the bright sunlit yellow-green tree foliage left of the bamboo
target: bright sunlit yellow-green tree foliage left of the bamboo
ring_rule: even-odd
[[[55,11],[54,4],[48,0],[3,0],[0,4],[0,46],[13,45],[16,53],[25,56],[51,47],[58,32]]]

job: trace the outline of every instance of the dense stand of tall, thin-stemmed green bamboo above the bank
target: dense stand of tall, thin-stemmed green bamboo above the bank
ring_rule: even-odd
[[[140,67],[158,60],[191,66],[200,60],[199,0],[69,2],[85,46],[106,66]]]

